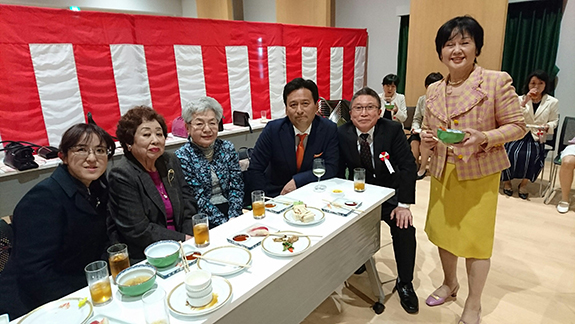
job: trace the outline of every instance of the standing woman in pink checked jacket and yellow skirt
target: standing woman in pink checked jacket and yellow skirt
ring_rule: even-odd
[[[425,232],[437,245],[443,283],[426,300],[443,304],[459,290],[457,260],[465,258],[469,294],[459,323],[481,321],[481,294],[493,252],[499,174],[509,167],[503,148],[525,134],[511,77],[476,65],[483,28],[469,16],[456,17],[435,37],[449,75],[427,89],[422,149],[432,149],[431,187]],[[466,133],[461,144],[446,145],[438,128]]]

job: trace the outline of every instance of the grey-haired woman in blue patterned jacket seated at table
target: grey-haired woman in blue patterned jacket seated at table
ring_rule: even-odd
[[[218,138],[222,106],[211,97],[184,107],[188,142],[176,151],[186,181],[210,227],[242,214],[244,182],[234,144]]]

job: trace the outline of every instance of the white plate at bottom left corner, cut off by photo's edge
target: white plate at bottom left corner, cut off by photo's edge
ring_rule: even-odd
[[[36,308],[20,320],[19,324],[58,323],[58,324],[84,324],[92,316],[92,303],[78,307],[83,298],[62,298]],[[69,303],[70,307],[60,307]]]

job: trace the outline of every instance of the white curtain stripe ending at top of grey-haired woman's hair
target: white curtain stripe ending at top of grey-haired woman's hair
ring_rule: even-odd
[[[182,110],[186,103],[206,96],[202,47],[174,45]]]

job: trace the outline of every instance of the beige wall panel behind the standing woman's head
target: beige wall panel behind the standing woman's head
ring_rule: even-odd
[[[425,94],[424,80],[430,72],[447,75],[435,51],[435,35],[449,19],[471,15],[485,31],[484,46],[477,62],[484,68],[501,69],[507,0],[411,0],[405,99],[415,106]]]

